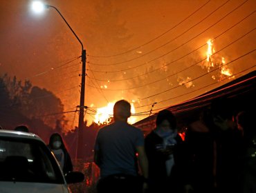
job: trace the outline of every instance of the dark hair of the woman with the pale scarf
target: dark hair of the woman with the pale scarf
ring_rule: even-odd
[[[170,110],[161,110],[158,112],[156,116],[156,126],[161,125],[161,123],[165,120],[169,121],[172,129],[176,128],[176,117],[174,114],[172,114],[172,112],[170,112]]]

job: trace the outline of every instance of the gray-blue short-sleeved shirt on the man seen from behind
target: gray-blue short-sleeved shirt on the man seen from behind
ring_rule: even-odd
[[[144,146],[143,132],[128,123],[116,121],[100,129],[95,151],[100,159],[100,176],[137,175],[136,147]]]

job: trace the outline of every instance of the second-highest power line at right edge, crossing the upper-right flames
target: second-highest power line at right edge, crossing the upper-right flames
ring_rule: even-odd
[[[229,44],[226,45],[225,47],[221,48],[221,50],[218,50],[217,52],[214,52],[214,53],[212,54],[212,56],[213,56],[214,54],[217,54],[217,53],[221,52],[222,50],[228,48],[230,45],[232,45],[233,43],[236,43],[236,42],[239,41],[240,39],[246,37],[246,35],[250,34],[250,32],[253,32],[255,29],[256,29],[256,28],[253,28],[253,30],[250,30],[249,32],[247,32],[246,34],[242,35],[241,37],[239,37],[239,38],[236,39],[235,41],[232,41],[231,43],[229,43]],[[141,87],[143,87],[143,86],[145,86],[145,85],[151,85],[151,84],[153,84],[153,83],[157,83],[157,82],[159,82],[159,81],[163,81],[163,80],[165,80],[165,79],[167,79],[167,78],[173,77],[174,75],[179,74],[179,73],[181,73],[181,72],[183,72],[183,71],[185,71],[185,70],[188,70],[188,69],[190,69],[190,68],[196,66],[197,64],[201,63],[202,61],[205,61],[205,59],[207,59],[207,57],[205,57],[205,58],[202,59],[201,61],[198,61],[198,62],[196,62],[196,63],[190,65],[190,66],[187,67],[187,68],[183,68],[183,70],[179,70],[179,72],[170,74],[170,75],[168,75],[167,77],[164,77],[164,78],[162,78],[162,79],[158,79],[158,80],[153,81],[153,82],[151,82],[151,83],[146,83],[146,84],[144,84],[144,85],[138,85],[138,86],[135,86],[135,87],[133,87],[133,88],[106,89],[106,90],[109,90],[109,91],[131,90],[131,89],[141,88]],[[92,85],[89,85],[89,86],[93,87]]]

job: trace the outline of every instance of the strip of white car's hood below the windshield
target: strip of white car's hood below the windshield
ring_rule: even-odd
[[[50,183],[23,183],[0,181],[1,193],[68,193],[68,187],[64,184]]]

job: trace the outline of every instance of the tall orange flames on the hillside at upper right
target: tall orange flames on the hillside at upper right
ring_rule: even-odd
[[[208,44],[208,48],[206,52],[207,59],[206,61],[201,63],[201,67],[207,68],[208,72],[210,72],[212,68],[220,68],[219,74],[212,75],[212,79],[214,80],[217,79],[219,81],[223,79],[223,76],[231,77],[232,76],[231,70],[227,66],[223,66],[226,63],[225,58],[219,57],[216,54],[212,56],[212,54],[214,54],[215,52],[214,46],[213,46],[213,40],[208,39],[207,44]],[[235,77],[232,77],[232,79],[234,78]]]

